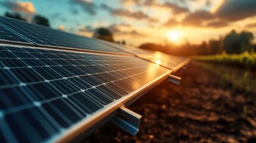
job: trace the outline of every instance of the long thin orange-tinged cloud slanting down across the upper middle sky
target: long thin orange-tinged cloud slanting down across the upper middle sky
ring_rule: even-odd
[[[129,17],[129,18],[135,18],[137,20],[146,19],[151,22],[156,21],[155,19],[149,17],[148,15],[142,13],[141,11],[128,11],[128,10],[122,10],[122,9],[113,9],[106,4],[101,4],[101,8],[109,11],[110,14],[116,15],[119,17]]]

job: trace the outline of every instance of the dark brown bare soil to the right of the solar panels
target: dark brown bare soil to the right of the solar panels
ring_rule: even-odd
[[[255,92],[193,64],[178,74],[128,107],[143,116],[136,136],[106,123],[83,142],[256,142]]]

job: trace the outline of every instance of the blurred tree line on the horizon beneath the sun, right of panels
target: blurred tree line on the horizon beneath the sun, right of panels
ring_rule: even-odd
[[[189,42],[177,46],[172,43],[165,45],[156,43],[143,43],[139,48],[152,49],[155,51],[165,52],[175,55],[211,55],[220,54],[226,51],[227,54],[239,54],[245,51],[251,52],[256,50],[256,45],[252,42],[254,36],[251,32],[236,32],[232,30],[224,38],[210,39],[208,42],[203,41],[201,44],[190,44]]]

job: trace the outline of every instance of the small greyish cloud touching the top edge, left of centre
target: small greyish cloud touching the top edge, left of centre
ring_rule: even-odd
[[[81,6],[82,10],[86,13],[95,15],[96,14],[96,5],[92,1],[85,1],[85,0],[70,0],[73,4],[78,4]],[[77,12],[77,11],[76,11]],[[76,14],[75,12],[75,14]]]

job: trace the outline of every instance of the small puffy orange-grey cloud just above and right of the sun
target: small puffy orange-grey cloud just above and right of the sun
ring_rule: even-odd
[[[214,18],[214,15],[208,11],[196,11],[195,13],[190,13],[185,17],[181,24],[185,26],[202,26],[203,21],[211,20]]]

